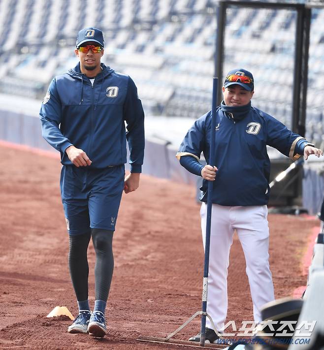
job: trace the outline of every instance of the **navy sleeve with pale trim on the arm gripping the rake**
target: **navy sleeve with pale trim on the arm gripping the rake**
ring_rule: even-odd
[[[197,161],[200,159],[200,154],[203,151],[205,142],[204,122],[206,115],[197,119],[194,125],[188,130],[185,138],[181,142],[179,151],[176,157],[180,160],[182,156],[192,156]]]

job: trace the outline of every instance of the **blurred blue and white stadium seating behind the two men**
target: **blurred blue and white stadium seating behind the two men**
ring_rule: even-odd
[[[130,74],[146,114],[197,118],[210,109],[216,0],[0,0],[0,93],[41,99],[77,63],[76,32],[105,34],[103,58]],[[295,1],[303,2],[303,1]],[[323,144],[324,9],[312,10],[307,137]],[[224,72],[250,69],[253,103],[290,125],[296,14],[227,9]]]

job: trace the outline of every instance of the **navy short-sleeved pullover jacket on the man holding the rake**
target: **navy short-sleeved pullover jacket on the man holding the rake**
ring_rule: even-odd
[[[216,112],[215,159],[216,179],[212,202],[224,206],[264,205],[269,199],[270,160],[266,145],[291,159],[302,137],[281,122],[254,108],[245,106],[237,119],[229,113],[236,107],[222,104]],[[243,108],[243,109],[244,109]],[[242,108],[241,108],[242,109]],[[177,158],[200,154],[209,164],[211,111],[197,119],[182,141]],[[207,180],[203,180],[200,200],[207,202]]]

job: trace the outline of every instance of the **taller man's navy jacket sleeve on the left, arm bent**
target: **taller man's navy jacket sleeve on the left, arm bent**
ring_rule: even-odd
[[[64,153],[72,143],[62,134],[61,101],[56,88],[55,78],[52,80],[40,107],[42,136],[56,150]]]

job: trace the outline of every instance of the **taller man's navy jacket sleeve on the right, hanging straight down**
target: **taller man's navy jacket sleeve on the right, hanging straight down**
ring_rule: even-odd
[[[127,124],[126,138],[130,148],[130,172],[142,172],[144,159],[144,111],[137,95],[137,88],[129,77],[127,95],[123,106],[124,120]]]

